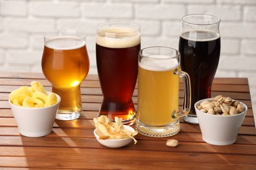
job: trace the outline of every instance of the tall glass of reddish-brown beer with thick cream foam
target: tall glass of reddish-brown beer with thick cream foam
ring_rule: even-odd
[[[96,28],[96,65],[103,94],[100,115],[134,124],[133,92],[138,75],[140,26],[129,22],[104,22]]]

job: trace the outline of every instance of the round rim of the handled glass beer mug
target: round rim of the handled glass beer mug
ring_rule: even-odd
[[[169,55],[165,55],[165,56],[168,56],[167,58],[155,58],[155,57],[150,57],[150,55],[148,56],[144,56],[142,54],[142,52],[144,50],[148,50],[148,49],[154,49],[154,48],[158,48],[158,49],[165,49],[165,50],[169,50],[169,51],[175,51],[176,54],[173,55],[173,56],[169,56]],[[161,54],[155,54],[155,55],[158,55],[158,56],[161,56]],[[175,49],[175,48],[171,48],[171,47],[168,47],[168,46],[148,46],[146,48],[142,48],[140,51],[139,51],[139,56],[143,57],[143,58],[148,58],[148,59],[175,59],[175,58],[180,58],[181,57],[181,53],[179,52],[179,50]],[[151,55],[152,56],[152,55]]]

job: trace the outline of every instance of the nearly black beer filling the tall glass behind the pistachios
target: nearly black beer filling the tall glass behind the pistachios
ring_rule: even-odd
[[[219,33],[190,31],[181,34],[179,40],[181,69],[190,75],[191,113],[194,103],[211,97],[211,84],[217,71],[221,52]]]

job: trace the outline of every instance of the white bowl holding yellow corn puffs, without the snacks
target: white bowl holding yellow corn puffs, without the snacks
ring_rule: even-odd
[[[47,92],[47,95],[49,93],[51,92]],[[18,107],[9,100],[20,134],[27,137],[42,137],[53,131],[56,112],[60,105],[60,96],[56,94],[56,97],[56,104],[38,108]]]

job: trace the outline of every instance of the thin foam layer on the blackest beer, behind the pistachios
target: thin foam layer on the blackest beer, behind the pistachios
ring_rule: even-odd
[[[181,34],[181,37],[191,41],[213,41],[219,39],[219,33],[203,30],[188,31]]]

